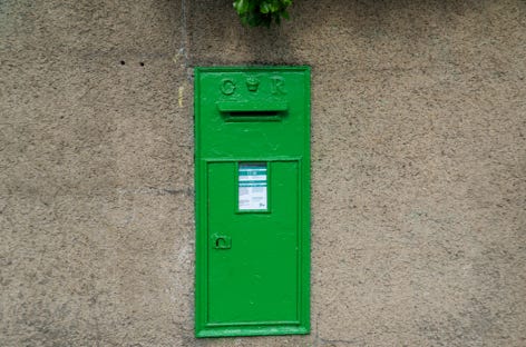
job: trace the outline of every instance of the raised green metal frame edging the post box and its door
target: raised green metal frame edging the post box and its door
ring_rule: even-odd
[[[294,71],[304,73],[304,110],[305,125],[303,151],[304,156],[301,158],[283,157],[245,157],[245,158],[203,158],[201,156],[202,133],[201,129],[201,75],[206,72],[274,72],[274,71]],[[310,67],[197,67],[195,68],[195,83],[194,83],[194,119],[195,119],[195,226],[196,226],[196,251],[195,251],[195,336],[196,337],[226,337],[226,336],[265,336],[265,335],[292,335],[292,334],[309,334],[310,333]],[[228,108],[228,105],[221,105],[218,107]],[[235,111],[233,106],[233,111]],[[284,106],[281,103],[271,105],[272,110],[281,112]],[[228,111],[226,109],[226,111]],[[235,120],[234,120],[235,121]],[[243,120],[241,120],[243,121]],[[221,324],[210,324],[206,321],[207,314],[207,175],[206,167],[213,162],[231,162],[231,161],[291,161],[298,160],[299,163],[299,192],[300,192],[300,242],[301,254],[300,261],[300,298],[299,321],[283,321],[274,324],[262,325],[246,325],[238,324],[235,327],[222,326]],[[272,175],[272,174],[271,174]],[[270,192],[272,195],[272,191]],[[270,202],[270,201],[269,201]]]

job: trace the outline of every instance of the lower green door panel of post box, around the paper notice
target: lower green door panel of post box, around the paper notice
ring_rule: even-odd
[[[208,165],[210,324],[298,324],[298,162],[270,168],[270,215],[237,214],[235,162]],[[231,248],[217,249],[217,238],[231,240]]]

